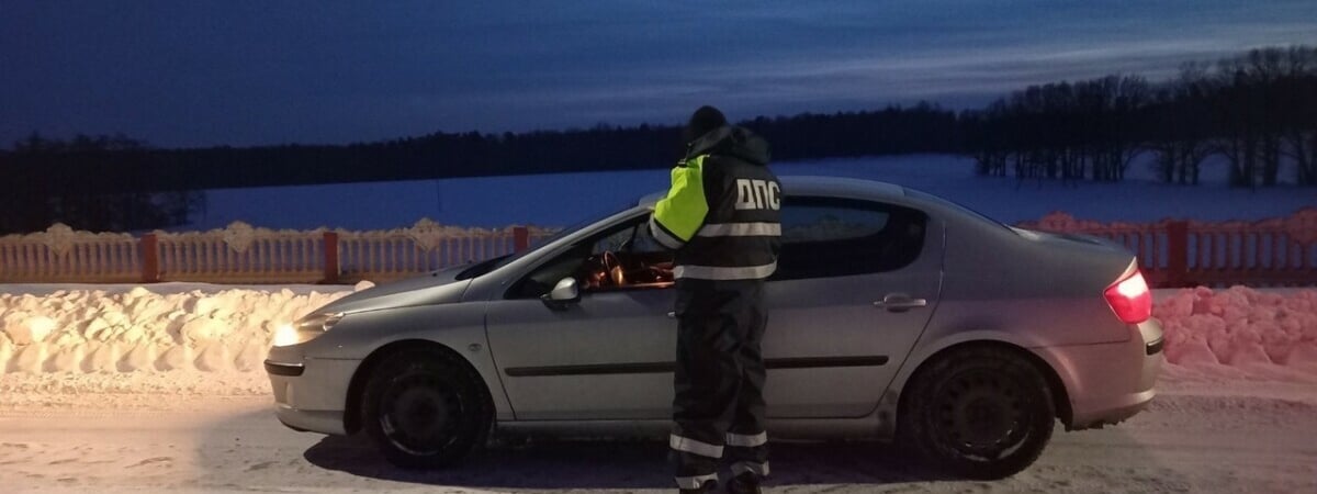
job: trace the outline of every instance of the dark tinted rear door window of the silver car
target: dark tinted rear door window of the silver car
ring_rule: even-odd
[[[896,271],[923,250],[928,216],[868,200],[790,198],[773,281]]]

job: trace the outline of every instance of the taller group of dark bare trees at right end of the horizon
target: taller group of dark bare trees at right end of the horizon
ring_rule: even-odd
[[[1152,154],[1160,180],[1196,184],[1220,155],[1234,187],[1317,186],[1317,49],[1268,47],[1137,75],[1030,86],[957,116],[961,151],[985,175],[1114,182]]]

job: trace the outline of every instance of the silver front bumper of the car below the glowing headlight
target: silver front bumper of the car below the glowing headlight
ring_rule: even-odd
[[[288,428],[346,435],[348,385],[360,360],[287,358],[271,350],[265,361],[275,416]]]

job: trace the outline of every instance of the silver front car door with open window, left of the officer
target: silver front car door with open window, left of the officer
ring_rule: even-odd
[[[554,310],[539,298],[603,252],[670,261],[637,216],[566,249],[489,304],[486,328],[519,420],[665,419],[677,345],[668,283],[594,287]]]

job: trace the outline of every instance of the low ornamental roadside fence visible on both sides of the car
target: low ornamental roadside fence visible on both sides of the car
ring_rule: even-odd
[[[1317,285],[1317,208],[1260,221],[1097,223],[1054,212],[1021,228],[1110,238],[1138,256],[1148,282],[1181,286]],[[410,228],[271,231],[236,221],[209,232],[45,232],[0,237],[0,283],[385,282],[528,249],[556,229]]]

